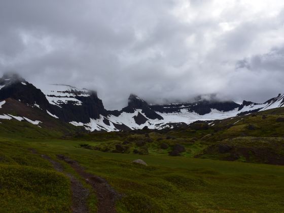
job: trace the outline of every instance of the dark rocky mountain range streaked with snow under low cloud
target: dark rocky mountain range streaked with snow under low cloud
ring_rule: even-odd
[[[282,107],[284,94],[264,103],[201,97],[191,102],[148,104],[130,94],[122,110],[109,111],[95,91],[69,85],[51,84],[37,88],[17,74],[4,74],[0,79],[0,122],[17,120],[39,128],[48,125],[72,124],[88,131],[131,129],[164,129],[188,125],[198,120],[220,120]]]

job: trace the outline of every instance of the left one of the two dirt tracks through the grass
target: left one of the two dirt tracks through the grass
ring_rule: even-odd
[[[29,149],[33,154],[38,154],[34,149]],[[89,196],[89,190],[85,189],[80,181],[78,181],[72,174],[64,172],[64,168],[61,163],[51,159],[47,155],[41,155],[42,158],[48,160],[54,167],[56,171],[64,173],[69,177],[71,182],[72,191],[72,212],[74,213],[85,213],[88,211],[87,199]]]

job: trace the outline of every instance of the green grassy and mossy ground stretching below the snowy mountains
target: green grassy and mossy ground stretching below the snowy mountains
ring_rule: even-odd
[[[0,211],[72,212],[79,186],[85,207],[96,212],[105,209],[100,189],[107,181],[119,195],[117,212],[283,212],[282,117],[275,109],[180,129],[110,133],[34,134],[32,125],[2,122]]]

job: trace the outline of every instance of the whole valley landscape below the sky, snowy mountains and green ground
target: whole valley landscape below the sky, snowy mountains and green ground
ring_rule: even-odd
[[[107,111],[22,81],[0,90],[3,212],[284,211],[283,95]]]

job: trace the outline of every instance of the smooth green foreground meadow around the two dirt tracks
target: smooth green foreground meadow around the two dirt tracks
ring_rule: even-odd
[[[123,194],[116,204],[118,212],[284,211],[283,166],[100,152],[81,148],[80,144],[85,142],[1,137],[3,212],[70,211],[69,180],[40,155],[32,154],[30,148],[54,159],[56,154],[64,154],[88,172],[107,179]],[[131,163],[138,158],[149,166]],[[95,201],[89,205],[95,211]]]

